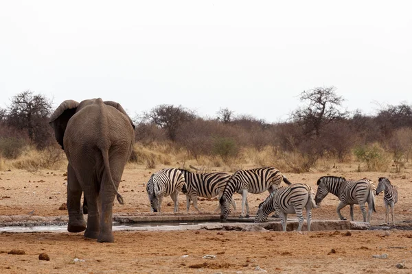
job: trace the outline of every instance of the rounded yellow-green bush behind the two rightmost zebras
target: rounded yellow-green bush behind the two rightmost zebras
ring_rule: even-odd
[[[354,155],[366,163],[367,171],[386,171],[389,166],[387,153],[376,143],[356,147]]]

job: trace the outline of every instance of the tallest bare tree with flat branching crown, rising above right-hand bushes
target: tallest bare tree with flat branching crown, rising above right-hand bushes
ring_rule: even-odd
[[[324,125],[347,116],[348,112],[340,109],[344,99],[335,91],[336,88],[330,86],[301,92],[300,101],[308,105],[293,112],[292,118],[304,127],[305,134],[319,136]]]

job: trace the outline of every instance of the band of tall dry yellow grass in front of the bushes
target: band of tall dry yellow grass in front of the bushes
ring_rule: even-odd
[[[374,162],[376,171],[392,171],[393,160],[387,151],[381,151],[382,157]],[[354,171],[365,171],[367,166],[363,162],[356,162],[356,157],[351,155],[347,158],[348,162],[354,163]],[[323,157],[317,161],[310,171],[328,171],[339,163],[338,159]],[[27,147],[22,155],[15,160],[0,158],[0,171],[7,169],[25,169],[27,171],[38,171],[39,169],[64,169],[67,160],[64,152],[59,147],[49,147],[43,151],[37,151],[32,147]],[[231,158],[227,162],[216,155],[202,155],[194,158],[185,149],[177,149],[170,143],[151,145],[135,145],[133,158],[126,164],[126,169],[141,168],[163,169],[164,167],[176,166],[179,168],[190,169],[190,165],[196,166],[203,172],[226,171],[234,172],[238,169],[251,169],[257,166],[275,166],[284,173],[303,173],[306,159],[297,152],[279,152],[272,146],[263,149],[253,147],[243,147],[238,157]]]

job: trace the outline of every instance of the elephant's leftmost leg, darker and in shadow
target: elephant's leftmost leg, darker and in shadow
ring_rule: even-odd
[[[82,188],[70,164],[67,165],[67,211],[69,213],[68,232],[82,232],[86,229],[80,208]]]

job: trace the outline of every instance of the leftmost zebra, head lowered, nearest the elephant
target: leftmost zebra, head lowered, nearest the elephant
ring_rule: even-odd
[[[150,212],[161,212],[163,197],[169,196],[174,203],[174,212],[179,210],[178,196],[185,186],[185,177],[179,169],[162,169],[153,173],[146,185],[150,201]]]

